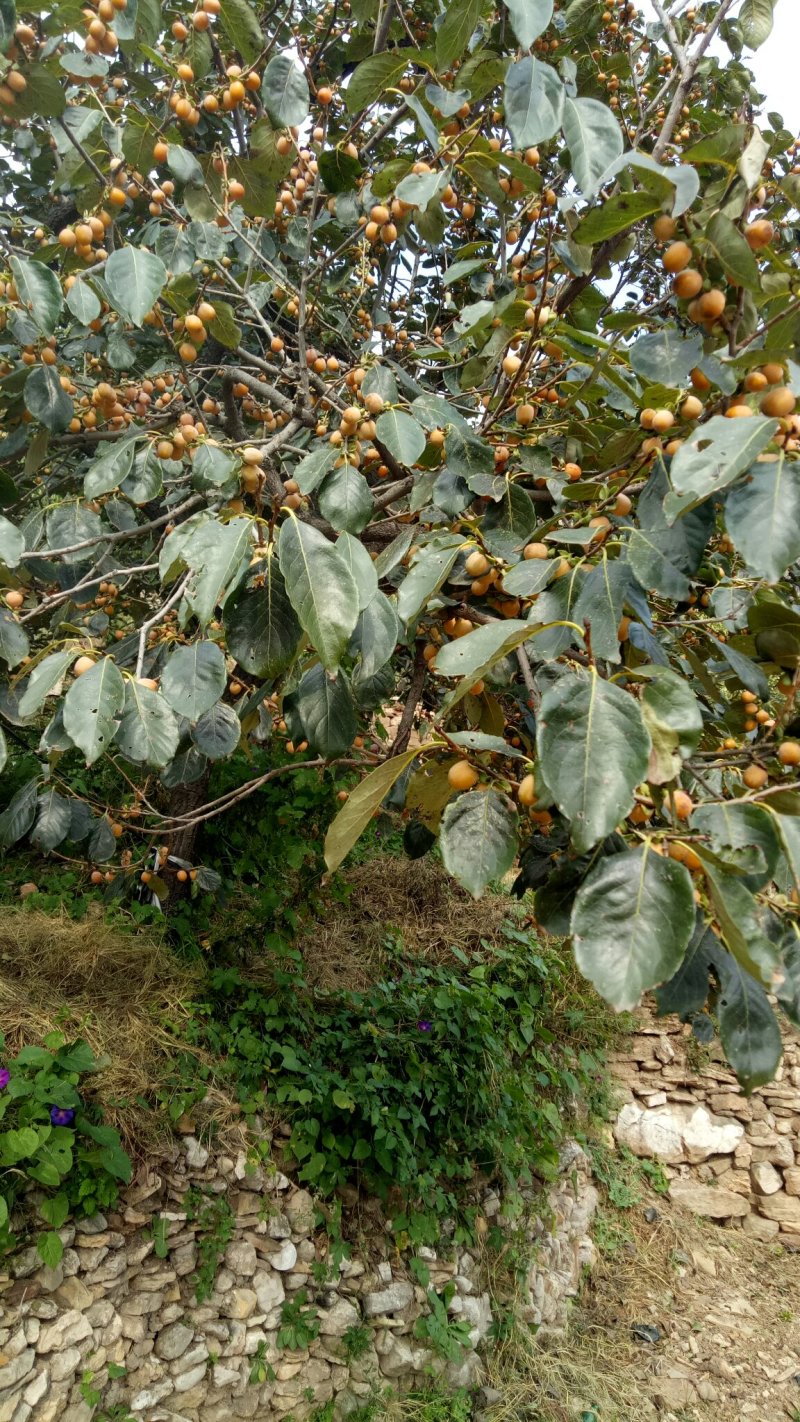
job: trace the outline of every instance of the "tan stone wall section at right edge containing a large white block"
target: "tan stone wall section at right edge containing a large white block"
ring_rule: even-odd
[[[693,1213],[800,1249],[800,1037],[786,1031],[783,1049],[776,1079],[746,1096],[719,1045],[642,1008],[614,1058],[627,1098],[614,1135],[662,1160],[669,1196]]]

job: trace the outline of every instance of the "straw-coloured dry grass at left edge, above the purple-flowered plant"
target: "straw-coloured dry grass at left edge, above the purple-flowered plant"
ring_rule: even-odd
[[[23,909],[0,916],[7,1055],[55,1030],[85,1038],[97,1057],[108,1058],[97,1078],[105,1116],[139,1158],[171,1139],[156,1098],[169,1091],[176,1052],[171,1027],[188,1018],[199,981],[156,937],[125,933],[99,916],[80,923]],[[226,1105],[210,1092],[202,1115],[225,1119]]]

